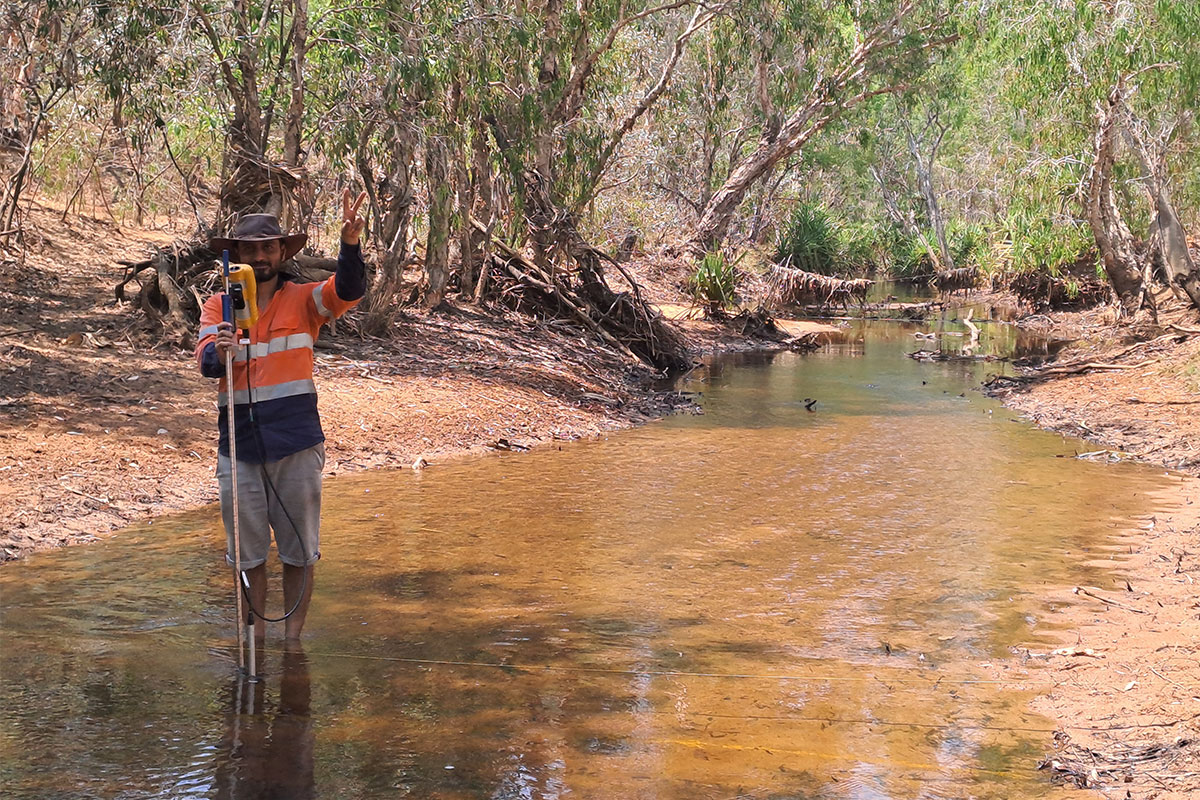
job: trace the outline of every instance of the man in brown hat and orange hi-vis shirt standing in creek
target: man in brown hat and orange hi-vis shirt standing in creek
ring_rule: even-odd
[[[214,239],[216,252],[229,251],[232,261],[250,264],[257,283],[258,321],[250,344],[222,320],[222,295],[214,295],[200,312],[196,357],[200,373],[221,378],[220,452],[217,480],[228,549],[234,563],[233,481],[226,404],[226,357],[233,356],[234,422],[238,433],[238,522],[241,564],[254,614],[254,637],[265,633],[266,554],[270,531],[283,564],[284,637],[300,638],[312,597],[313,564],[320,558],[320,474],[325,437],[317,414],[312,379],[312,347],[320,326],[354,307],[366,290],[366,267],[359,239],[366,224],[359,207],[366,193],[350,200],[342,194],[342,243],[337,272],[326,281],[299,283],[283,271],[300,252],[306,236],[286,235],[269,213],[245,215],[228,239]],[[239,581],[240,583],[240,581]]]

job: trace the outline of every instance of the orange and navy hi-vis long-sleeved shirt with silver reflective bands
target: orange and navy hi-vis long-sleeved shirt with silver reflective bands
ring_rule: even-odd
[[[358,245],[343,243],[337,271],[316,283],[284,277],[271,301],[250,330],[250,344],[234,357],[234,422],[238,461],[278,461],[325,440],[317,413],[312,379],[313,343],[322,325],[354,307],[366,293],[366,265]],[[196,357],[200,374],[220,378],[220,451],[229,455],[224,363],[217,357],[221,294],[209,297],[200,311]]]

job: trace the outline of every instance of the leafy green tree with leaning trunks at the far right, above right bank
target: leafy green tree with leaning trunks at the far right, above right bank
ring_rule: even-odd
[[[1122,309],[1133,313],[1147,296],[1151,221],[1171,283],[1200,306],[1200,276],[1180,258],[1182,228],[1168,193],[1172,182],[1190,182],[1193,192],[1196,186],[1189,151],[1200,92],[1200,4],[1025,1],[996,13],[996,36],[1014,54],[1015,132],[1075,199]],[[1122,158],[1123,142],[1132,164]],[[1124,190],[1130,169],[1153,198],[1151,213],[1141,212],[1146,222],[1130,223],[1139,205]]]

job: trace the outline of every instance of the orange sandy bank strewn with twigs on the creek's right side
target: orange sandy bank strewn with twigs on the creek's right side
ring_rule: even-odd
[[[1160,302],[1160,307],[1166,306]],[[1063,591],[1057,655],[1019,654],[1044,681],[1033,708],[1061,732],[1045,769],[1100,796],[1200,793],[1200,331],[1164,309],[1115,326],[1109,309],[1033,325],[1075,338],[1057,359],[992,393],[1039,427],[1081,437],[1081,457],[1164,468],[1164,488],[1112,542],[1109,584]],[[1176,327],[1172,327],[1176,326]],[[1099,365],[1086,367],[1085,365]]]

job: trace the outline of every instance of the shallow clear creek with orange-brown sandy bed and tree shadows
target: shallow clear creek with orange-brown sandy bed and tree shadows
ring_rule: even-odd
[[[305,651],[272,631],[258,684],[214,509],[5,566],[2,793],[1057,796],[1052,723],[988,664],[1056,646],[1049,597],[1163,479],[1070,458],[917,330],[716,360],[700,416],[329,481]]]

